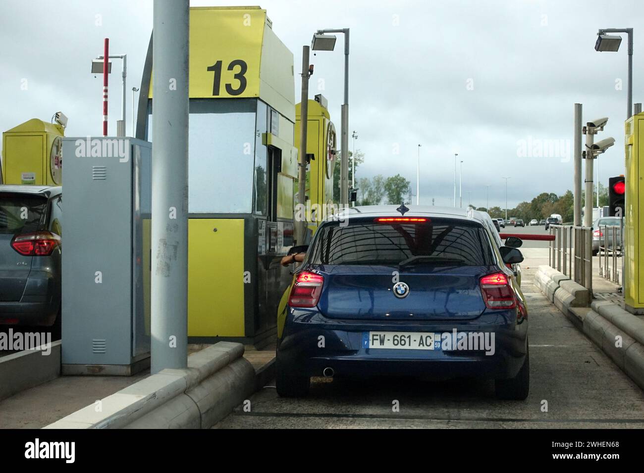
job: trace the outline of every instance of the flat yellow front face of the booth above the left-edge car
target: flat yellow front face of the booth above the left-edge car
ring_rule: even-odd
[[[43,134],[5,136],[5,184],[46,185],[43,138]]]

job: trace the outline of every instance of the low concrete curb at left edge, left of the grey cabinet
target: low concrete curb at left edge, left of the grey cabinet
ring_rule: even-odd
[[[61,375],[61,340],[52,342],[51,353],[40,349],[12,353],[0,358],[0,400]]]

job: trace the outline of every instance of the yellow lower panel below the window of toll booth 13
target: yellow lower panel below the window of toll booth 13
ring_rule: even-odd
[[[245,336],[243,227],[243,219],[188,219],[189,337]]]

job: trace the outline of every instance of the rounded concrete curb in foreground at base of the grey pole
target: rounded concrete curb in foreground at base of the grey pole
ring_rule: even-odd
[[[255,391],[243,345],[219,342],[45,429],[208,429]]]

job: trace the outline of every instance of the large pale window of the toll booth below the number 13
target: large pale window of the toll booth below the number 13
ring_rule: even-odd
[[[252,210],[256,99],[190,99],[188,210]],[[147,139],[152,136],[150,102]]]

